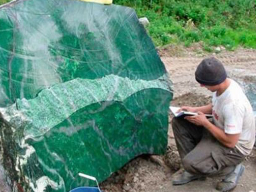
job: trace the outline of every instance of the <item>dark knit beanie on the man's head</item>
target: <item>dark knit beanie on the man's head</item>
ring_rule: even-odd
[[[206,58],[197,66],[196,81],[203,85],[217,85],[225,81],[227,73],[222,63],[214,57]]]

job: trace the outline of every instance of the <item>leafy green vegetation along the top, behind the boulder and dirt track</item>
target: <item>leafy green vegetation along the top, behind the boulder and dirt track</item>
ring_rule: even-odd
[[[10,0],[0,0],[3,4]],[[234,50],[256,48],[256,0],[113,0],[147,17],[148,33],[156,46],[202,42]]]

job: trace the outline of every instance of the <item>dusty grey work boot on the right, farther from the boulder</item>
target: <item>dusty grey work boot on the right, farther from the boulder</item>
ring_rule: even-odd
[[[239,178],[243,174],[244,169],[244,165],[236,165],[235,170],[229,173],[224,180],[217,184],[216,189],[219,191],[230,191],[234,189],[238,183]]]

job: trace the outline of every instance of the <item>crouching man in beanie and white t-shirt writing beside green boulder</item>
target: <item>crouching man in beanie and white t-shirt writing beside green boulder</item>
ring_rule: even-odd
[[[196,116],[173,118],[172,128],[184,172],[176,174],[173,185],[186,184],[207,176],[221,175],[216,189],[234,189],[244,172],[242,161],[255,140],[255,120],[250,102],[241,87],[227,78],[222,63],[204,59],[196,68],[196,81],[213,92],[212,104],[183,106]],[[209,121],[204,114],[212,114]]]

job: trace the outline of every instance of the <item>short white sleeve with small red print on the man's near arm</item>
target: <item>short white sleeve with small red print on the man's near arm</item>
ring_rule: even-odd
[[[224,106],[223,116],[225,133],[239,134],[242,132],[244,110],[244,106],[234,102],[226,104]]]

